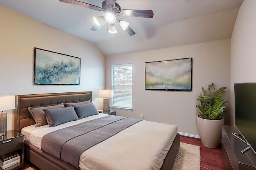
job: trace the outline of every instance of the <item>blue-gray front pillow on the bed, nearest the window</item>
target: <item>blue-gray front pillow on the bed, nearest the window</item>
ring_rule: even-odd
[[[98,113],[98,111],[93,103],[76,105],[73,107],[75,108],[76,114],[79,119],[82,119],[82,118],[88,117],[88,116],[92,116],[92,115],[100,114],[100,113]]]

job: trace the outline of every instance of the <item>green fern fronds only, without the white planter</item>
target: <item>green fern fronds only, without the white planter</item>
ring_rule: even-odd
[[[199,117],[210,120],[220,120],[224,117],[226,102],[221,99],[221,96],[225,89],[226,87],[222,87],[216,91],[214,83],[208,85],[207,89],[202,88],[202,94],[198,98],[201,106],[196,106],[200,110]]]

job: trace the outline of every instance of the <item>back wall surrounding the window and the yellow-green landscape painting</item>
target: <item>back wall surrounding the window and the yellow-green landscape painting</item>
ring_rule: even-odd
[[[192,92],[144,90],[144,64],[192,57]],[[224,99],[230,101],[230,39],[206,43],[170,47],[138,53],[128,53],[106,57],[106,88],[111,89],[111,65],[133,65],[133,111],[116,110],[117,115],[140,119],[140,114],[148,121],[178,125],[178,131],[188,135],[198,135],[196,105],[202,87],[212,82],[216,88],[227,87]],[[229,120],[229,102],[227,103]],[[229,122],[226,122],[228,124]]]

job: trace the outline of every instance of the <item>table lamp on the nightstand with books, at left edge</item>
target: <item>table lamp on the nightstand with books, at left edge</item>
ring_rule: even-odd
[[[3,110],[15,109],[15,96],[0,96],[0,138],[7,133],[7,112]]]

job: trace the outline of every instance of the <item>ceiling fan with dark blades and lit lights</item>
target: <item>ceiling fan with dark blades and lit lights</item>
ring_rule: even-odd
[[[102,8],[87,4],[85,2],[80,2],[78,0],[59,0],[60,2],[65,2],[68,4],[78,5],[85,8],[90,8],[92,10],[104,11],[105,16],[93,17],[95,25],[92,27],[92,31],[99,31],[106,22],[110,23],[110,28],[107,30],[110,33],[116,33],[116,27],[114,22],[118,22],[119,25],[125,30],[129,35],[134,35],[135,32],[129,26],[129,23],[124,21],[120,16],[131,16],[131,17],[142,17],[142,18],[153,18],[154,13],[152,10],[122,10],[120,5],[115,2],[115,0],[104,0],[102,2]]]

